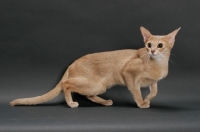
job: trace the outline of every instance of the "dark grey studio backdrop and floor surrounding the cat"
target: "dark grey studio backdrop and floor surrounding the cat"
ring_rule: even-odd
[[[200,1],[0,0],[0,131],[200,131]],[[8,106],[54,88],[75,59],[143,47],[140,26],[164,35],[181,27],[151,108],[126,87],[101,95],[111,107],[73,94],[37,106]],[[149,90],[143,89],[145,96]]]

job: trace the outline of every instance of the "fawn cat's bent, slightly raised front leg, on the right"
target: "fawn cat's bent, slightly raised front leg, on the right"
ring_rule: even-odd
[[[145,98],[144,102],[149,103],[150,101],[156,96],[157,92],[158,92],[158,88],[157,88],[157,83],[152,84],[149,88],[150,88],[150,93],[149,95]]]

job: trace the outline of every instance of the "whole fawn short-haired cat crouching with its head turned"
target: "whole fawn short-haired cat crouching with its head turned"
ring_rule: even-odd
[[[72,63],[57,86],[48,93],[16,99],[14,105],[36,105],[49,101],[63,90],[69,107],[78,107],[72,92],[85,95],[89,100],[110,106],[112,100],[104,100],[98,95],[113,85],[126,85],[133,94],[139,108],[149,108],[150,100],[157,94],[157,82],[168,74],[170,51],[175,42],[177,29],[165,36],[152,35],[140,27],[145,47],[138,50],[117,50],[85,55]],[[143,100],[140,88],[150,88],[150,93]]]

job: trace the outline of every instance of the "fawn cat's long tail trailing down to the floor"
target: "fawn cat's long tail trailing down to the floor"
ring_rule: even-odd
[[[54,89],[52,89],[51,91],[49,91],[48,93],[44,95],[31,97],[31,98],[16,99],[10,102],[10,106],[41,104],[57,97],[61,91],[62,91],[62,81],[60,81]]]

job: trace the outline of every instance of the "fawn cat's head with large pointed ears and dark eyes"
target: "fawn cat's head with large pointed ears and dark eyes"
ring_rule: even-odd
[[[145,47],[148,55],[152,58],[162,58],[165,54],[170,54],[172,47],[174,46],[175,36],[180,28],[171,32],[168,35],[152,35],[144,27],[140,27]]]

